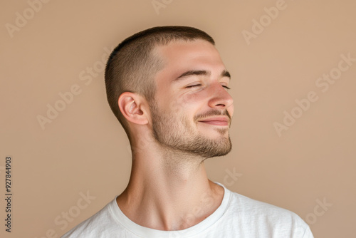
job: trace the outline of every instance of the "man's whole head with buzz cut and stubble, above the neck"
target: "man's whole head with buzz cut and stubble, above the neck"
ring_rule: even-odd
[[[132,98],[140,95],[158,143],[205,157],[231,150],[229,79],[214,40],[187,26],[155,27],[130,36],[112,52],[105,70],[110,107],[129,138],[129,121],[141,115],[131,120],[126,109],[137,106]]]

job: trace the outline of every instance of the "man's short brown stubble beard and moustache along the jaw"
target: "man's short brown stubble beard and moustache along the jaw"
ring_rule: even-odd
[[[224,135],[221,138],[206,138],[204,135],[197,133],[192,124],[189,124],[187,118],[184,118],[182,114],[177,116],[164,113],[159,110],[155,102],[150,103],[150,110],[152,113],[153,137],[164,148],[199,156],[203,160],[209,157],[227,155],[231,151],[230,136],[225,136],[226,133],[229,133],[228,128],[215,129],[221,135]],[[204,115],[221,115],[221,113],[219,110],[211,110],[208,113],[204,113]],[[200,117],[204,117],[204,115],[200,115]],[[194,118],[199,118],[199,116]],[[197,125],[197,120],[195,120],[195,123]]]

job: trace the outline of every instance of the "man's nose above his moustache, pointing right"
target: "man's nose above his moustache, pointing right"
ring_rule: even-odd
[[[214,83],[214,86],[211,85],[211,91],[209,94],[211,95],[209,100],[209,107],[211,108],[227,109],[234,103],[231,95],[226,91],[226,88],[221,86],[220,83]]]

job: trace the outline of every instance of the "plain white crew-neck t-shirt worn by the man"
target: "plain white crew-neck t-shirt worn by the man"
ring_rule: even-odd
[[[224,185],[221,186],[224,187]],[[142,227],[121,212],[115,197],[93,217],[78,224],[62,238],[313,238],[308,224],[297,214],[252,200],[231,192],[226,187],[224,191],[224,197],[218,209],[202,222],[187,229],[161,231]]]

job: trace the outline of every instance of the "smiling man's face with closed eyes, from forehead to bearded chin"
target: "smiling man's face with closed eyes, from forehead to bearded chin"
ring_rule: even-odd
[[[152,131],[165,148],[214,157],[231,150],[234,113],[226,71],[208,41],[176,41],[156,48],[164,68],[156,74],[150,105]]]

